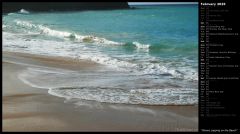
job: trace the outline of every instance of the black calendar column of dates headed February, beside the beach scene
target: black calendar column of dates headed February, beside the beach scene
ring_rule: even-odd
[[[199,3],[199,116],[202,119],[239,118],[235,109],[238,98],[234,98],[240,84],[239,31],[234,25],[237,17],[234,19],[229,4]]]

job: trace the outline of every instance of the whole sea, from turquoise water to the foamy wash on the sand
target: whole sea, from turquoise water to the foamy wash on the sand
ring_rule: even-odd
[[[2,15],[3,51],[90,60],[94,71],[44,67],[23,82],[66,99],[198,104],[198,5]]]

